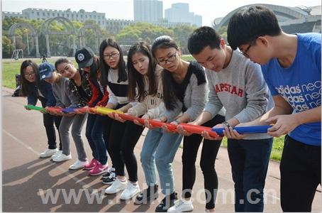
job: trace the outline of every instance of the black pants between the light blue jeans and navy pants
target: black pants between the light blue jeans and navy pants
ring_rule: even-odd
[[[225,121],[221,115],[215,116],[211,121],[206,122],[203,126],[213,127]],[[182,153],[182,197],[191,197],[192,187],[196,180],[196,155],[202,136],[192,134],[184,136],[184,148]],[[213,209],[216,202],[216,192],[218,189],[218,178],[215,170],[216,156],[221,146],[221,141],[204,140],[201,151],[200,167],[204,174],[204,189],[206,194],[206,209]],[[209,197],[209,195],[211,197]]]

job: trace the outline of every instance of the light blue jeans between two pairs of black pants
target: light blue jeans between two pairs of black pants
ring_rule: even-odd
[[[150,129],[141,151],[141,163],[148,185],[157,184],[159,173],[160,186],[164,195],[172,194],[174,190],[172,161],[182,141],[182,135],[167,133],[162,129]]]

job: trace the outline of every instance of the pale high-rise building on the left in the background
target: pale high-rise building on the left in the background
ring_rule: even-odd
[[[155,23],[163,19],[163,3],[157,0],[133,0],[134,21]]]

